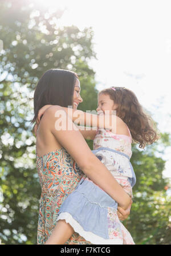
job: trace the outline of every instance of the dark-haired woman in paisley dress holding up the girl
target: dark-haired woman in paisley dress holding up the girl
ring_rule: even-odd
[[[83,100],[80,97],[80,83],[75,73],[67,70],[51,69],[40,78],[34,94],[34,119],[44,105],[72,106],[77,108]],[[131,200],[116,182],[108,169],[91,152],[79,130],[67,118],[67,127],[56,130],[56,106],[44,113],[36,131],[36,161],[42,194],[39,208],[38,244],[44,244],[56,225],[59,208],[64,199],[74,191],[84,174],[116,199],[115,187],[119,191],[121,219],[128,216]],[[92,131],[93,133],[95,131]],[[84,132],[82,131],[83,135]],[[79,168],[79,167],[80,168]],[[81,169],[81,170],[80,170]],[[99,179],[100,176],[100,179]],[[89,244],[74,233],[66,244]]]

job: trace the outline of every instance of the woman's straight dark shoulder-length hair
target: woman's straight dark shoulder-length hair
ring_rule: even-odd
[[[50,69],[42,75],[34,92],[34,118],[31,124],[36,121],[39,109],[44,105],[73,105],[76,78],[76,73],[63,69]]]

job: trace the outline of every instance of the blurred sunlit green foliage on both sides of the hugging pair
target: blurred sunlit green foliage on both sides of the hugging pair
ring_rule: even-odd
[[[40,185],[36,173],[35,137],[30,121],[33,95],[42,74],[51,68],[68,69],[79,75],[84,102],[81,110],[95,110],[95,72],[89,60],[93,31],[61,27],[61,10],[39,9],[31,0],[0,2],[0,239],[5,244],[35,244]],[[92,149],[92,142],[87,141]],[[164,149],[169,134],[146,151],[133,145],[132,165],[137,183],[131,215],[124,221],[136,243],[170,243],[170,197],[162,178]]]

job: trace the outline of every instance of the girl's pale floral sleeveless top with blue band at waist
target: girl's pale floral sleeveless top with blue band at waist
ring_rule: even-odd
[[[113,177],[125,179],[133,187],[136,183],[136,176],[130,162],[132,156],[131,143],[130,131],[129,136],[127,136],[113,134],[109,129],[100,129],[96,132],[92,152],[107,167]]]

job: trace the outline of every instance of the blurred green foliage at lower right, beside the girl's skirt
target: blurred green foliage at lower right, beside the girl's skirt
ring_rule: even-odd
[[[165,191],[169,179],[162,178],[165,161],[161,158],[169,145],[169,134],[164,133],[157,143],[146,146],[145,151],[138,150],[137,145],[132,149],[137,182],[133,187],[131,214],[123,223],[137,244],[170,244],[171,197]]]

